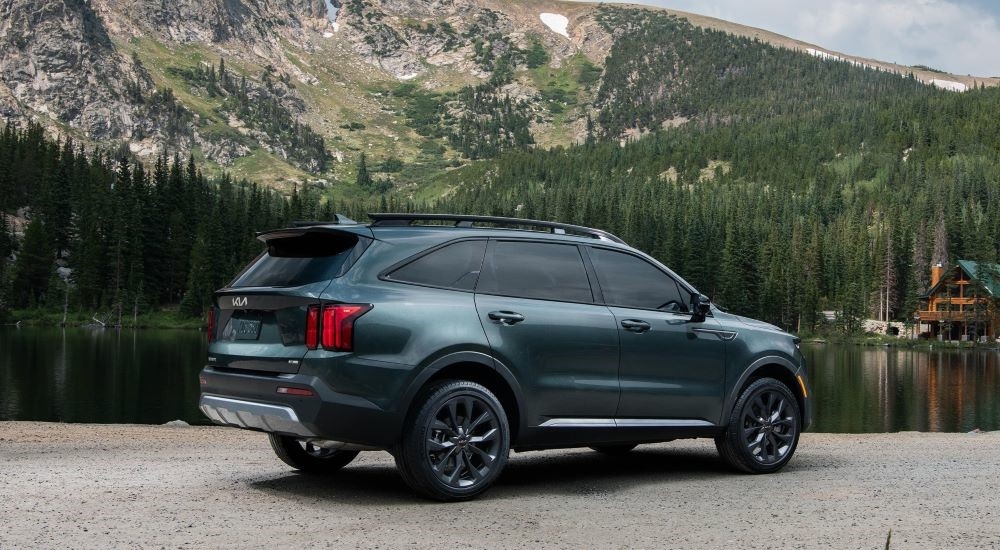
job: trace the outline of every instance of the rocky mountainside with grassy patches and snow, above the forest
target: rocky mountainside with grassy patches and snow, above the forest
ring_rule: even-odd
[[[126,143],[146,159],[193,154],[212,170],[276,185],[309,180],[341,195],[372,190],[353,185],[366,153],[382,174],[373,185],[412,191],[431,172],[505,150],[628,139],[704,114],[677,99],[694,82],[677,48],[659,59],[679,63],[669,75],[644,68],[649,58],[631,73],[607,70],[616,44],[651,28],[615,19],[631,9],[553,0],[2,0],[0,112],[91,146]],[[997,84],[657,13],[945,86]]]

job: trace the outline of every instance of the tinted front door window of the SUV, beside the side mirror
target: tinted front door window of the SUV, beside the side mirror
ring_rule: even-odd
[[[624,252],[591,248],[590,261],[601,283],[604,303],[641,309],[688,311],[691,296],[653,264]]]

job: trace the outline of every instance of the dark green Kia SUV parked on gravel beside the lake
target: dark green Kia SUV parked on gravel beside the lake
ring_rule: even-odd
[[[810,421],[798,338],[732,315],[586,227],[372,214],[260,235],[209,313],[201,410],[267,432],[293,468],[386,450],[439,500],[493,484],[511,449],[712,437],[774,472]]]

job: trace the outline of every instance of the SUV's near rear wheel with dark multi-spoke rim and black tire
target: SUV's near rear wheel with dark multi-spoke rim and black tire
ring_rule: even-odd
[[[394,454],[414,491],[458,501],[489,489],[509,452],[510,427],[496,396],[474,382],[445,380],[414,401]]]

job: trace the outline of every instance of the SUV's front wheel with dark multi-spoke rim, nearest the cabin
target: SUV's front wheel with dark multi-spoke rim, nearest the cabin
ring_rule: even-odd
[[[767,474],[792,458],[801,431],[802,416],[791,390],[773,378],[761,378],[740,394],[715,447],[736,470]]]

